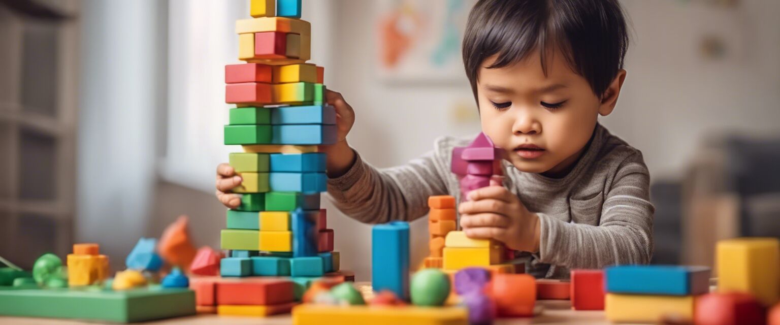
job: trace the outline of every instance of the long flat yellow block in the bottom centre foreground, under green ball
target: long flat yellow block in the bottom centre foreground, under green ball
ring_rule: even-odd
[[[466,308],[419,306],[323,306],[304,304],[293,308],[294,325],[466,325]]]

